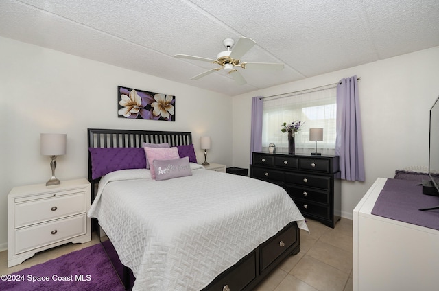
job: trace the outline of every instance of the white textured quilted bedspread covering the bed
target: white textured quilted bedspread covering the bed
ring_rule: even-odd
[[[196,164],[191,164],[195,169]],[[154,181],[149,170],[107,174],[88,216],[99,220],[136,290],[201,290],[292,221],[277,185],[209,170]]]

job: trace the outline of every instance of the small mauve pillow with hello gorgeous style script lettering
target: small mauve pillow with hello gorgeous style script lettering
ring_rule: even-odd
[[[174,160],[154,160],[152,164],[156,173],[156,181],[192,176],[188,156]]]

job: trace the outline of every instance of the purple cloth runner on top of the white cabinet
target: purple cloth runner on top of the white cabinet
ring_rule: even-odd
[[[372,214],[439,230],[439,209],[419,210],[439,206],[439,197],[423,194],[419,184],[418,181],[388,179]]]

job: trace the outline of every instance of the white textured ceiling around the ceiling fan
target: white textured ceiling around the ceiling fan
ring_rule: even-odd
[[[438,0],[0,0],[0,36],[192,86],[239,95],[439,45]],[[217,66],[224,38],[257,45],[241,62],[282,71]],[[145,85],[146,86],[146,85]],[[147,89],[147,88],[146,88]]]

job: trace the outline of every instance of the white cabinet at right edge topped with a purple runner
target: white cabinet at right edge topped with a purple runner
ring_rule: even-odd
[[[371,214],[385,181],[353,210],[353,290],[438,290],[439,231]]]

